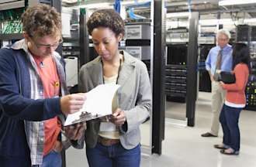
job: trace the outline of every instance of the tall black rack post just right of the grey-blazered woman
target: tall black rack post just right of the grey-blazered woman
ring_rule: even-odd
[[[161,155],[162,141],[164,140],[165,14],[164,1],[154,0],[152,153],[158,155]]]

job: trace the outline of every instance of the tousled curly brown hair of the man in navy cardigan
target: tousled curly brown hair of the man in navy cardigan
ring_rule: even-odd
[[[34,5],[22,14],[22,26],[30,37],[61,36],[61,15],[50,5]]]

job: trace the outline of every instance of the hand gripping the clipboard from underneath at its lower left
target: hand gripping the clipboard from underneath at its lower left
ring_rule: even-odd
[[[86,122],[81,122],[78,124],[71,124],[64,127],[64,132],[67,138],[71,140],[78,140],[84,134],[86,130]]]

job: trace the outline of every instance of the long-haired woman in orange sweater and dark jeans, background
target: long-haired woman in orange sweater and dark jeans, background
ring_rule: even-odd
[[[220,82],[224,90],[227,90],[225,103],[220,112],[220,124],[223,128],[223,143],[214,145],[220,148],[220,153],[225,155],[238,155],[240,150],[240,130],[238,120],[240,111],[245,107],[245,87],[250,72],[249,49],[244,43],[234,44],[233,72],[235,83],[225,84]]]

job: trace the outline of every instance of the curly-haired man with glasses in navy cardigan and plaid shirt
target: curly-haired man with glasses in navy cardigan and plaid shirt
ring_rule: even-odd
[[[66,145],[57,116],[79,111],[85,94],[66,95],[64,60],[55,52],[62,42],[56,9],[29,7],[22,24],[25,39],[0,49],[0,164],[61,167]],[[83,124],[65,130],[71,139],[65,143],[79,147]]]

